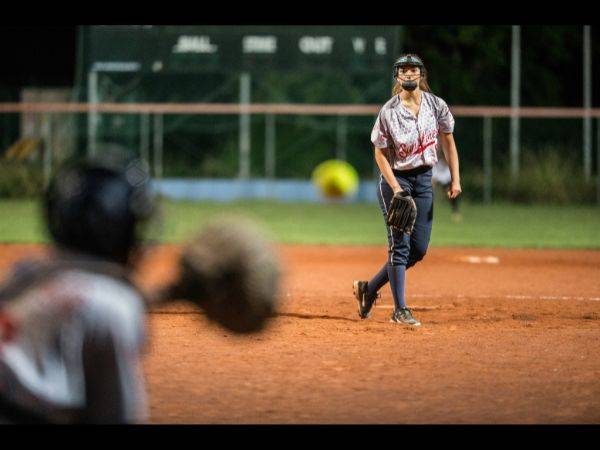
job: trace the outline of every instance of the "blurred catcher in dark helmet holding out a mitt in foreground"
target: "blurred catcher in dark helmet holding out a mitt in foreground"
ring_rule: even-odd
[[[179,277],[144,294],[132,272],[155,209],[139,161],[78,162],[52,180],[44,215],[55,245],[0,287],[0,423],[146,420],[150,304],[189,300],[240,333],[273,315],[279,264],[245,222],[208,226],[184,244]]]

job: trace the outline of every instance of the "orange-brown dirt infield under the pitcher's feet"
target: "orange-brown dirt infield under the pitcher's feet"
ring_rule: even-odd
[[[0,270],[38,246],[0,245]],[[140,282],[173,273],[149,252]],[[600,252],[433,248],[408,272],[423,326],[360,320],[352,280],[384,247],[281,246],[281,312],[236,337],[186,304],[152,311],[153,423],[600,423]]]

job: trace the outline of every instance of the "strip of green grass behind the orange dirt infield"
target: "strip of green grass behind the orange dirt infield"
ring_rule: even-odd
[[[453,222],[448,203],[436,203],[432,246],[600,248],[598,207],[463,203],[461,212],[462,221]],[[161,242],[180,242],[221,214],[256,218],[281,243],[386,244],[375,203],[165,201],[152,234]],[[0,217],[1,242],[47,241],[36,202],[0,201]]]

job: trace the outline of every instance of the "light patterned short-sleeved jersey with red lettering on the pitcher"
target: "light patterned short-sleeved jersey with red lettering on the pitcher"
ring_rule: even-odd
[[[389,149],[392,169],[408,170],[434,166],[437,162],[438,133],[454,131],[454,117],[444,100],[429,92],[421,92],[418,117],[395,95],[379,111],[371,142],[377,148]]]

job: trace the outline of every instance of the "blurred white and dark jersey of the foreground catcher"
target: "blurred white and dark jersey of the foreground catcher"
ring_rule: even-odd
[[[76,268],[0,298],[0,397],[50,422],[144,421],[144,310],[130,284]]]

